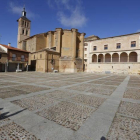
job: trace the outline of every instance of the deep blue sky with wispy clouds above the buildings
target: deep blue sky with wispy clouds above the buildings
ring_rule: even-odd
[[[17,47],[17,19],[25,4],[31,35],[77,28],[100,38],[140,31],[140,0],[1,0],[0,43]]]

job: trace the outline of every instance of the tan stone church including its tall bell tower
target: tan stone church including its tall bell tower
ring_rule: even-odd
[[[56,28],[30,36],[31,21],[25,8],[18,19],[18,48],[31,52],[29,67],[39,72],[81,72],[84,69],[84,36],[77,29]]]

